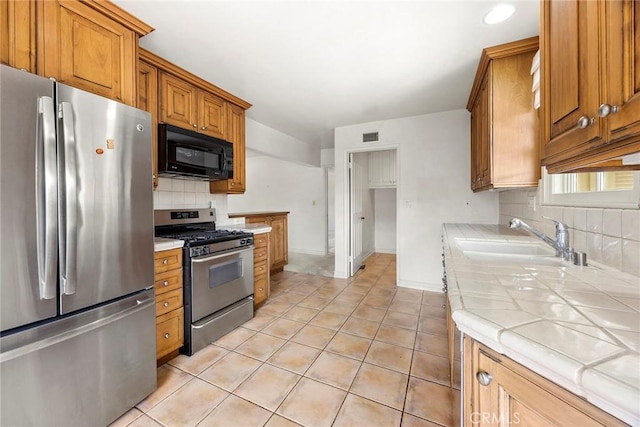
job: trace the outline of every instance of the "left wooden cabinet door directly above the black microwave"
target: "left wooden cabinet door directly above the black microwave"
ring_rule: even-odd
[[[160,122],[198,129],[198,89],[171,74],[159,73]]]

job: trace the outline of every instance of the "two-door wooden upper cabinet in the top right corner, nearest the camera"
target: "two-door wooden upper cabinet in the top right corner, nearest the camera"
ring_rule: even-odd
[[[541,3],[543,164],[580,170],[640,151],[637,1]]]

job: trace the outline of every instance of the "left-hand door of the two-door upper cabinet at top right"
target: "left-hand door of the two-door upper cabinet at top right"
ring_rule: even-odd
[[[601,119],[596,114],[599,2],[545,0],[542,5],[545,160],[568,158],[597,146],[602,138]]]

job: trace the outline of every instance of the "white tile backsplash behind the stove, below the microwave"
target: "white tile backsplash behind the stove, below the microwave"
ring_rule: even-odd
[[[206,181],[190,181],[186,179],[159,178],[158,188],[153,192],[154,209],[216,209],[216,222],[229,221],[226,194],[210,194]]]

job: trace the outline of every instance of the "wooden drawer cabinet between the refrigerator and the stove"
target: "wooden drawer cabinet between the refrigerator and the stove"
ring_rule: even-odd
[[[155,253],[156,359],[184,344],[182,249]]]

